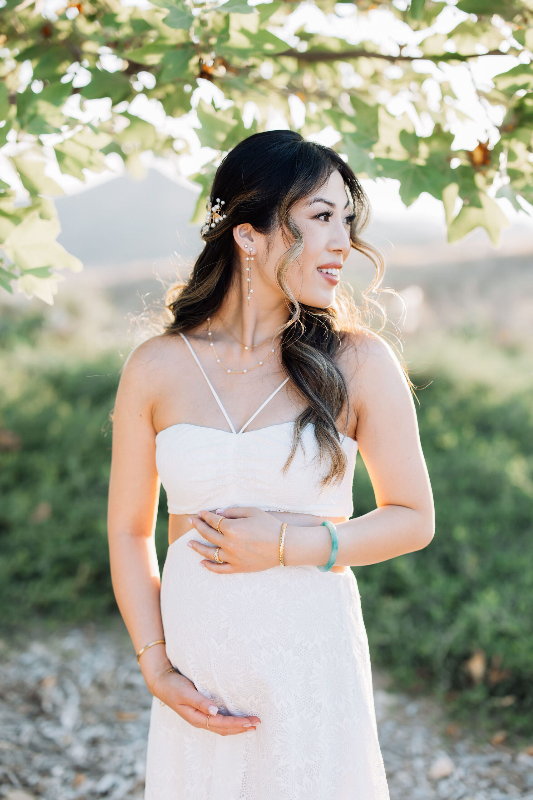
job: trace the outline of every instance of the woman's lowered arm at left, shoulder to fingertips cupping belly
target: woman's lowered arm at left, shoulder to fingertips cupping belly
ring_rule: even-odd
[[[109,560],[113,590],[136,652],[164,639],[160,610],[155,522],[159,478],[155,464],[153,403],[161,391],[164,348],[151,340],[129,358],[121,376],[113,414],[113,455],[109,481]],[[216,716],[217,707],[185,676],[169,672],[165,646],[141,655],[139,666],[149,690],[196,727],[223,735],[244,733],[257,717]]]

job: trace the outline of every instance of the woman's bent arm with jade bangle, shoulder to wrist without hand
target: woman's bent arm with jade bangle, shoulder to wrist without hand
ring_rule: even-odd
[[[356,438],[377,508],[336,526],[338,566],[376,564],[421,550],[435,532],[432,489],[404,372],[383,339],[368,338],[358,352]],[[325,564],[329,556],[328,530],[319,530],[313,534],[312,564]],[[306,532],[296,529],[286,537],[288,564],[305,563]]]

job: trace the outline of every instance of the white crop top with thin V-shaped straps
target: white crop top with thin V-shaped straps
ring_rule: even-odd
[[[340,482],[325,488],[313,426],[302,434],[286,473],[283,467],[292,446],[294,422],[282,422],[245,433],[250,422],[288,382],[265,400],[238,432],[233,427],[217,392],[205,374],[189,339],[183,334],[194,360],[213,392],[230,430],[179,422],[156,436],[156,465],[168,498],[169,514],[256,506],[265,511],[292,511],[317,517],[351,517],[352,482],[357,442],[341,438],[348,466]]]

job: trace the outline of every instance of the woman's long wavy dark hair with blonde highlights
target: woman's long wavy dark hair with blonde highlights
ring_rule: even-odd
[[[348,331],[368,330],[369,324],[348,293],[337,294],[336,302],[328,308],[313,308],[298,302],[287,277],[304,250],[304,238],[291,217],[292,207],[323,186],[335,171],[344,180],[355,215],[350,230],[352,247],[367,256],[376,269],[371,286],[364,292],[368,303],[376,303],[369,293],[380,287],[384,260],[379,250],[360,238],[369,217],[364,190],[335,150],[308,142],[291,130],[254,134],[225,156],[215,174],[211,198],[213,203],[216,198],[225,200],[226,218],[204,234],[205,246],[189,279],[169,290],[166,301],[172,314],[167,334],[186,333],[201,326],[221,308],[237,278],[233,228],[248,222],[267,236],[281,230],[287,250],[276,265],[276,281],[289,317],[277,331],[280,358],[307,404],[296,419],[284,469],[301,444],[305,426],[313,424],[320,460],[328,463],[324,486],[340,480],[347,464],[336,421],[345,414],[348,428],[348,388],[335,357]],[[380,312],[384,320],[383,306]]]

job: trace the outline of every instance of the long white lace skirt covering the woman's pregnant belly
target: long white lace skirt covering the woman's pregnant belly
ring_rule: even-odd
[[[223,713],[261,725],[219,736],[154,699],[145,800],[388,800],[352,570],[217,575],[193,537],[163,570],[167,654]]]

